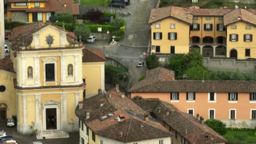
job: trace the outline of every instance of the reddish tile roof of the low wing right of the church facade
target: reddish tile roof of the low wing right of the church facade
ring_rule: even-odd
[[[104,57],[101,50],[97,49],[83,49],[83,63],[85,62],[105,62],[107,59]]]

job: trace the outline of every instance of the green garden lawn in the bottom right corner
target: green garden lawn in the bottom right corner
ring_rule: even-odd
[[[254,135],[256,131],[228,131],[223,137],[230,142],[230,144],[236,143],[240,141],[237,139],[237,136],[244,136],[244,140],[242,142],[244,144],[253,144],[256,143],[256,135]]]

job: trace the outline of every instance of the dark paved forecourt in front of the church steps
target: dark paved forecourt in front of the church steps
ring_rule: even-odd
[[[0,130],[4,130],[8,135],[13,136],[13,139],[18,144],[28,144],[33,141],[42,141],[44,144],[79,143],[79,133],[78,132],[69,133],[69,138],[37,140],[36,136],[18,134],[17,127],[7,127],[5,121],[4,122],[0,121]]]

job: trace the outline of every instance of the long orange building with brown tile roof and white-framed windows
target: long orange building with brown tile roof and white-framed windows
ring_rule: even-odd
[[[226,127],[256,126],[256,81],[171,80],[174,75],[168,71],[148,70],[145,79],[129,90],[131,97],[159,98],[193,116],[219,119]]]

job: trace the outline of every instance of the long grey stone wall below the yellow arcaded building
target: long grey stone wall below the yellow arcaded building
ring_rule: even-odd
[[[210,70],[240,70],[243,73],[256,73],[256,61],[236,61],[235,59],[203,58],[203,65]]]

